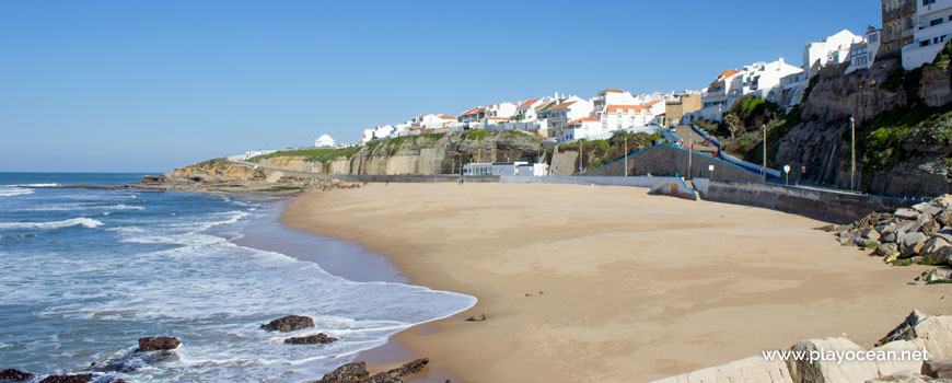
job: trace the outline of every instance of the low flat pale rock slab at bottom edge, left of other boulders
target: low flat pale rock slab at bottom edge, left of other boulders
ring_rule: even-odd
[[[652,383],[707,383],[707,382],[773,382],[793,383],[787,364],[779,358],[765,360],[763,356],[736,360],[730,363],[701,369],[685,374],[665,378]]]

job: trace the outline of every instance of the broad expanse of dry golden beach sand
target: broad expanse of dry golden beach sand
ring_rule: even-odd
[[[453,382],[647,382],[803,338],[870,347],[913,309],[952,313],[949,285],[906,285],[926,267],[839,246],[824,222],[643,188],[371,184],[298,197],[283,222],[477,297],[396,336]]]

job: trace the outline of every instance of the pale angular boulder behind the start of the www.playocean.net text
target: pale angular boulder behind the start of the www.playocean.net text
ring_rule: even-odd
[[[864,351],[847,338],[825,338],[800,340],[790,347],[793,352]],[[814,382],[866,382],[880,376],[875,361],[811,360],[789,358],[787,370],[793,383]]]

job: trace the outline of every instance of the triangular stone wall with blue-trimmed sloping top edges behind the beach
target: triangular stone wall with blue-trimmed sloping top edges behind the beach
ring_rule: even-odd
[[[688,156],[690,156],[690,172],[688,172]],[[663,176],[678,173],[686,178],[710,177],[709,165],[715,166],[715,178],[761,181],[759,174],[732,163],[704,154],[689,153],[687,150],[667,144],[657,144],[628,155],[628,175]],[[625,159],[588,171],[584,175],[625,175]]]

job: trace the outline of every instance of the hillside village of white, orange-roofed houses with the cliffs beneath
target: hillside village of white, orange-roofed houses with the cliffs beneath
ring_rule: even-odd
[[[403,123],[364,129],[362,142],[356,144],[338,143],[328,135],[323,135],[315,140],[314,148],[347,149],[340,153],[347,159],[355,154],[362,156],[362,160],[356,161],[361,165],[322,161],[323,165],[312,163],[294,167],[348,174],[429,174],[431,171],[436,174],[466,174],[464,167],[468,163],[537,161],[546,162],[544,165],[549,166],[548,172],[542,172],[546,175],[571,175],[582,174],[585,170],[645,149],[627,143],[635,135],[640,135],[637,136],[639,142],[649,142],[649,146],[650,142],[670,142],[754,173],[744,179],[794,179],[797,183],[884,195],[909,195],[918,190],[915,185],[907,182],[903,186],[895,182],[895,174],[885,173],[902,167],[897,164],[915,156],[913,154],[921,152],[922,148],[931,148],[929,150],[936,152],[927,150],[927,156],[941,156],[941,150],[933,150],[934,146],[928,142],[912,142],[913,139],[921,141],[921,138],[883,132],[883,128],[891,129],[895,121],[878,117],[892,113],[919,116],[917,118],[920,119],[943,118],[933,115],[938,112],[921,109],[918,105],[924,104],[921,100],[928,98],[925,105],[938,109],[949,101],[945,93],[952,94],[942,91],[949,88],[943,85],[949,81],[941,68],[928,76],[922,74],[922,68],[940,60],[937,57],[944,60],[948,56],[943,48],[949,43],[949,36],[952,36],[952,0],[882,0],[881,23],[883,28],[870,26],[862,34],[843,30],[808,43],[803,47],[799,67],[778,58],[721,69],[710,83],[695,90],[632,94],[623,89],[608,88],[591,97],[555,92],[531,100],[475,105],[454,115],[419,114]],[[809,98],[810,95],[813,97]],[[909,114],[907,112],[913,111],[909,108],[919,108],[916,111],[921,113]],[[856,117],[855,126],[850,125],[850,117]],[[859,136],[854,141],[846,141],[850,129],[858,129]],[[480,134],[467,134],[473,131]],[[479,146],[474,149],[472,144],[457,142],[461,139],[486,137],[484,132],[524,134],[541,146],[538,149],[529,149],[526,142],[522,142],[518,144],[521,154],[486,155],[488,151],[498,153],[499,148]],[[463,136],[458,136],[461,134]],[[436,165],[406,163],[419,162],[419,158],[400,160],[404,161],[400,165],[383,162],[365,165],[379,162],[374,158],[414,153],[423,155],[420,148],[427,144],[419,143],[440,139],[442,135],[457,136],[450,139],[452,142],[440,146],[444,152],[433,158],[441,161]],[[930,132],[919,136],[941,139],[942,135]],[[426,139],[419,141],[414,137]],[[617,141],[613,137],[624,140]],[[876,137],[887,137],[889,142],[883,143],[885,141]],[[584,143],[592,141],[607,142],[596,150]],[[375,142],[386,142],[383,148],[388,149],[380,151],[381,146]],[[910,144],[918,149],[907,150],[912,148]],[[850,152],[851,147],[855,147],[854,152]],[[894,149],[881,155],[873,153],[886,147]],[[571,148],[579,152],[578,158],[566,161],[576,161],[576,164],[561,160],[560,165],[553,163],[556,160],[554,154],[560,149],[565,151]],[[275,152],[252,151],[233,159],[258,162],[276,155]],[[301,154],[300,150],[277,153]],[[315,155],[310,155],[312,161],[313,158],[334,154]],[[889,159],[883,160],[883,155]],[[937,163],[934,159],[929,161],[925,166],[929,167],[927,176],[934,178],[929,181],[934,186],[930,186],[930,190],[948,188],[948,182],[940,179],[945,172],[934,170],[937,164],[938,167],[944,166],[943,162]],[[884,162],[890,162],[890,166],[881,166]],[[903,166],[924,167],[918,164]],[[789,169],[786,171],[787,177],[781,177],[780,169]],[[671,170],[664,172],[667,171]],[[903,172],[909,174],[908,169]],[[537,169],[532,171],[532,174],[538,173]],[[662,170],[632,173],[632,170],[620,169],[616,173],[664,174]],[[687,174],[688,177],[694,175],[692,169],[671,172],[672,175],[676,173]]]

